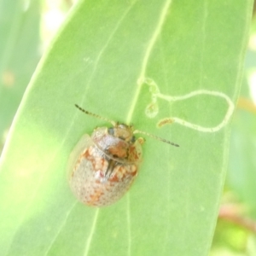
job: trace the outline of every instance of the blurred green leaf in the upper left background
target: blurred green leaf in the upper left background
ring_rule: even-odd
[[[0,153],[4,134],[38,63],[39,3],[2,1],[0,8]]]

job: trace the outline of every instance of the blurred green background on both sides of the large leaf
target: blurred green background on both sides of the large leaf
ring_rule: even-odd
[[[38,61],[75,1],[2,1],[0,152]],[[233,118],[230,165],[211,256],[256,255],[256,17]]]

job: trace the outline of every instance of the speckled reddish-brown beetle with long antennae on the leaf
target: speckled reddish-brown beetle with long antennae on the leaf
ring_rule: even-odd
[[[142,162],[144,139],[136,133],[154,137],[178,147],[160,137],[133,129],[133,125],[119,124],[90,113],[75,104],[84,113],[108,121],[113,126],[98,127],[91,136],[85,134],[70,157],[69,184],[79,201],[92,207],[105,207],[118,201],[131,187]]]

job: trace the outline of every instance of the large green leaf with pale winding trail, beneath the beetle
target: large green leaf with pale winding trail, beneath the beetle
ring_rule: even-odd
[[[3,255],[207,255],[251,10],[250,0],[81,1],[4,148]],[[67,160],[84,133],[108,124],[74,103],[180,148],[148,137],[129,193],[86,207],[68,187]]]

